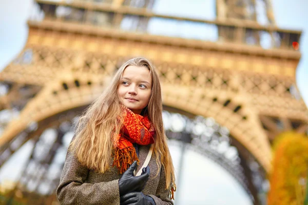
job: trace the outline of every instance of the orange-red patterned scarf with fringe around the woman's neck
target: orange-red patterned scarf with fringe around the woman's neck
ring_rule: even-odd
[[[113,141],[113,165],[120,174],[124,173],[134,160],[139,162],[133,143],[149,145],[154,143],[155,128],[148,115],[134,114],[128,108],[121,106],[123,127]]]

